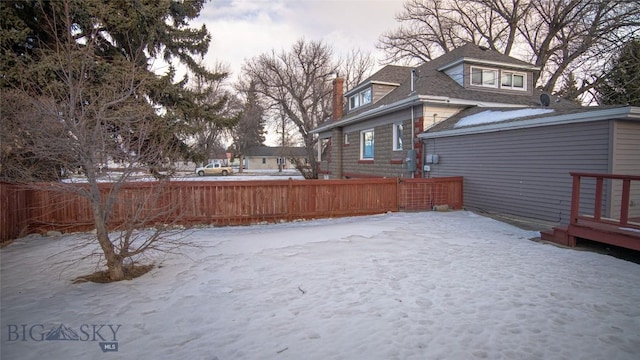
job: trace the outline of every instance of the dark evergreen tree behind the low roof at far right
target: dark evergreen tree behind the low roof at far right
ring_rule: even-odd
[[[640,106],[640,38],[622,47],[595,89],[602,105]]]

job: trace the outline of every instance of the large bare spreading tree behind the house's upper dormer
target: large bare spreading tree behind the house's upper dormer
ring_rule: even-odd
[[[546,91],[569,72],[594,86],[603,59],[637,36],[640,3],[627,0],[408,0],[400,27],[378,47],[387,61],[429,61],[467,42],[520,57],[542,68]]]

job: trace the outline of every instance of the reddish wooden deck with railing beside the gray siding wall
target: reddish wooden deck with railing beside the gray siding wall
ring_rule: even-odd
[[[575,246],[576,239],[588,239],[605,244],[640,250],[640,217],[630,216],[631,183],[640,182],[640,176],[571,173],[571,218],[568,225],[541,232],[543,240],[566,246]],[[580,214],[580,187],[582,179],[595,179],[595,201],[590,214]],[[619,218],[602,216],[605,179],[622,181]],[[640,194],[634,194],[638,197]],[[613,199],[609,199],[612,201]]]

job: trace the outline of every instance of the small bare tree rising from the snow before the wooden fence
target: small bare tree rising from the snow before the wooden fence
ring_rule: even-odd
[[[149,101],[150,89],[159,89],[158,82],[166,77],[146,68],[147,44],[136,45],[120,34],[119,45],[127,51],[105,54],[105,41],[110,39],[104,28],[88,24],[106,15],[82,17],[87,9],[74,4],[38,2],[38,26],[49,37],[30,45],[32,54],[15,53],[12,68],[8,64],[13,82],[2,84],[0,175],[25,186],[52,180],[49,189],[88,200],[96,231],[91,244],[99,244],[109,278],[118,281],[145,251],[181,245],[167,236],[176,218],[175,204],[161,201],[165,182],[128,200],[121,189],[142,166],[156,167],[177,158],[184,149],[175,134],[186,125],[160,116]],[[91,8],[101,9],[106,11]],[[11,43],[3,41],[2,46],[5,54],[14,50]],[[9,103],[12,100],[18,104]],[[120,171],[103,185],[107,162],[117,162]],[[51,169],[45,177],[42,163]],[[85,184],[68,179],[74,171],[83,174]],[[113,228],[116,209],[126,212],[126,220]],[[139,237],[141,227],[150,230]]]

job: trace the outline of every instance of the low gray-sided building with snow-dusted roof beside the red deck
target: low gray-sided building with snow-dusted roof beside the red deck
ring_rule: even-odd
[[[640,108],[470,109],[423,134],[429,176],[463,176],[467,208],[569,222],[569,172],[640,174]],[[605,183],[603,216],[619,216],[621,181]],[[595,181],[581,209],[593,208]],[[591,204],[590,206],[588,204]],[[629,215],[640,216],[640,183]]]

